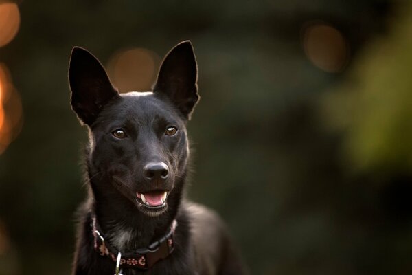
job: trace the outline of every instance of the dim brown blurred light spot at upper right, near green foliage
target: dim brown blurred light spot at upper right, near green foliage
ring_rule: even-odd
[[[309,60],[325,72],[341,72],[350,58],[345,37],[332,25],[306,23],[302,28],[302,44]]]

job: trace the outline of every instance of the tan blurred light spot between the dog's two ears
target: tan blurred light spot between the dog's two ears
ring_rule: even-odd
[[[110,58],[107,69],[120,92],[149,91],[157,74],[160,57],[151,50],[120,50]]]

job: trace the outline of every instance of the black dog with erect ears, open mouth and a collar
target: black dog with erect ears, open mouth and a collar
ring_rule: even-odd
[[[222,221],[183,197],[196,80],[190,41],[164,58],[152,92],[127,94],[73,48],[71,107],[90,140],[73,274],[244,274]]]

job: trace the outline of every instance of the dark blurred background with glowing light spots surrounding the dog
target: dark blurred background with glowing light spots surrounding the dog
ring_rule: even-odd
[[[70,273],[87,142],[71,47],[147,91],[185,39],[189,196],[251,274],[412,274],[411,3],[0,0],[0,274]]]

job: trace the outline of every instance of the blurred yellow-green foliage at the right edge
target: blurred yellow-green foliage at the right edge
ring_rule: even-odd
[[[363,50],[347,80],[325,95],[325,118],[345,131],[343,154],[354,170],[412,167],[411,7],[389,34]]]

